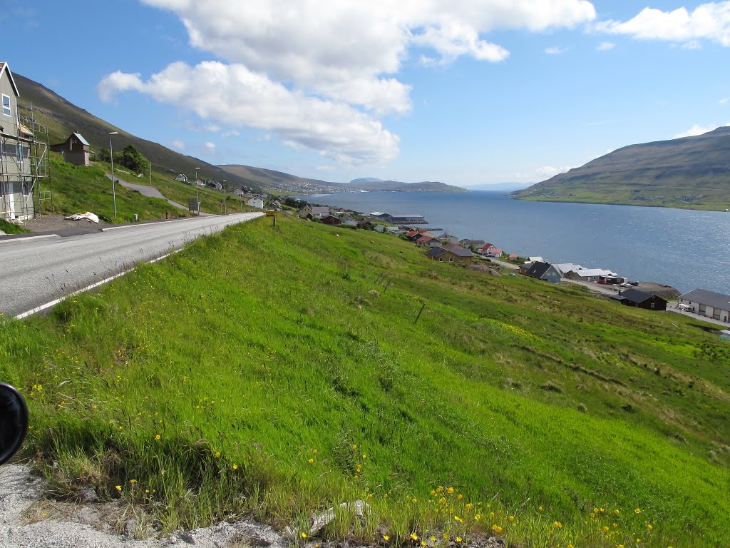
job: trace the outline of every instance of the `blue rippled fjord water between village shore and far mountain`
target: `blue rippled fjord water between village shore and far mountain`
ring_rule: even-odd
[[[730,213],[523,202],[496,192],[301,197],[363,213],[418,213],[429,227],[508,253],[607,268],[626,278],[730,294]]]

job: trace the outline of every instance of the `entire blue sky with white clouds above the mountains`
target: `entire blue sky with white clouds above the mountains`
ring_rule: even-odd
[[[525,183],[730,125],[730,1],[3,4],[12,72],[211,164]]]

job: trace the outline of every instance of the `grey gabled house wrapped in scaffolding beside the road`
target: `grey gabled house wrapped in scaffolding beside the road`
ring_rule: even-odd
[[[31,115],[18,115],[18,86],[0,61],[0,218],[33,218],[36,205],[50,200],[40,180],[48,181],[48,130]],[[40,208],[40,207],[39,207]]]

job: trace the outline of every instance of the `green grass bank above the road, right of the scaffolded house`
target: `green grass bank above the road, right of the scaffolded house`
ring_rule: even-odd
[[[96,166],[69,164],[61,159],[60,154],[51,153],[50,175],[53,184],[53,209],[50,209],[50,202],[42,202],[39,213],[44,215],[70,215],[91,211],[108,222],[118,223],[133,221],[135,213],[139,216],[139,221],[165,218],[166,212],[172,217],[188,215],[188,212],[173,208],[164,199],[147,198],[137,191],[117,185],[117,217],[114,218],[112,180],[104,175],[104,170]],[[47,183],[42,181],[41,184],[42,190],[47,190]]]

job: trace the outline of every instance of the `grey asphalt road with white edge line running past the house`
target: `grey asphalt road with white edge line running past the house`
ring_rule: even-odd
[[[0,241],[0,313],[18,316],[263,213],[183,218],[93,234]]]

